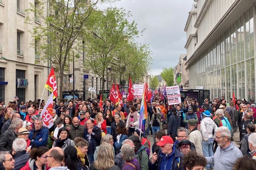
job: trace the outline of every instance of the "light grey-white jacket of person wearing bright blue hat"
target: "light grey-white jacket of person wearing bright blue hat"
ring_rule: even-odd
[[[208,141],[209,138],[213,138],[212,131],[218,126],[210,117],[205,117],[200,124],[200,132],[203,137],[203,141]]]

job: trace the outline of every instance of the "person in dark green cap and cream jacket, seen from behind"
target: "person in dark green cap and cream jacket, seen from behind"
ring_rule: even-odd
[[[202,135],[197,129],[197,122],[196,119],[189,119],[188,120],[188,127],[190,130],[189,133],[189,141],[195,144],[195,151],[198,155],[203,155],[202,151]]]

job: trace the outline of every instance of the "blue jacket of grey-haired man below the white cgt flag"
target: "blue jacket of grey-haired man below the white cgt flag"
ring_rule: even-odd
[[[33,128],[32,130],[30,130],[29,133],[29,139],[32,142],[32,147],[39,147],[39,146],[46,146],[47,142],[48,142],[48,135],[49,135],[49,130],[47,127],[42,127],[40,130],[38,130],[35,139],[33,139],[33,135],[35,133],[35,128]],[[39,139],[42,139],[41,141],[39,141]]]

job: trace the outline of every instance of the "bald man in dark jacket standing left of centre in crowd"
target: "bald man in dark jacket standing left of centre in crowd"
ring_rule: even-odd
[[[69,138],[74,140],[76,137],[84,137],[84,126],[80,125],[78,117],[74,117],[72,120],[72,126],[69,131]]]

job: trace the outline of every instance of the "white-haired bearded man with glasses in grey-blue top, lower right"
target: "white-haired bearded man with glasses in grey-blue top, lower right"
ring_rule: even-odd
[[[211,157],[205,157],[208,164],[214,164],[215,170],[232,170],[236,160],[242,157],[241,150],[231,142],[231,132],[227,127],[215,129],[218,148]]]

